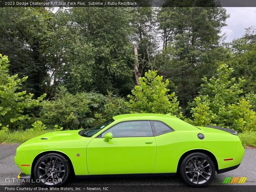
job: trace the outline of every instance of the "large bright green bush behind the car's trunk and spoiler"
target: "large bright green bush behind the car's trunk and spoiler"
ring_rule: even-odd
[[[250,101],[241,96],[245,80],[231,78],[232,72],[233,68],[223,64],[217,69],[217,77],[203,78],[199,96],[190,104],[194,124],[214,124],[239,132],[256,130],[256,114]]]

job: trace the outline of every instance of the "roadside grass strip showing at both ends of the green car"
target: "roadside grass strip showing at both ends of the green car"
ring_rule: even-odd
[[[44,133],[53,132],[55,130],[44,131],[15,131],[15,132],[0,132],[0,144],[5,142],[7,144],[23,143],[33,137],[43,135]],[[238,134],[244,147],[256,147],[256,132],[243,132]]]

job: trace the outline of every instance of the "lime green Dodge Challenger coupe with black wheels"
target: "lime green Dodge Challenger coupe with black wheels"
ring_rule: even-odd
[[[19,179],[60,186],[76,178],[175,175],[204,186],[217,173],[236,169],[244,156],[237,132],[196,127],[159,114],[115,116],[87,130],[50,132],[17,148]]]

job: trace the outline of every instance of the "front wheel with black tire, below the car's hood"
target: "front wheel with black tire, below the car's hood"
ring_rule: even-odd
[[[70,165],[66,157],[57,153],[41,156],[34,166],[36,182],[44,186],[61,186],[70,174]]]

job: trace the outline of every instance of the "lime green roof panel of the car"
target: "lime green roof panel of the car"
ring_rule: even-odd
[[[178,117],[175,117],[175,116],[171,116],[169,114],[166,114],[166,115],[163,115],[163,114],[154,114],[154,113],[134,113],[134,114],[124,114],[124,115],[117,115],[117,116],[114,116],[113,119],[114,120],[119,120],[119,119],[131,119],[133,120],[134,118],[140,118],[140,117],[143,117],[143,119],[155,119],[155,118],[178,118]]]

